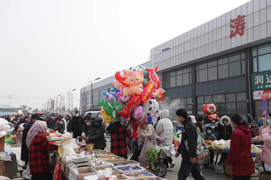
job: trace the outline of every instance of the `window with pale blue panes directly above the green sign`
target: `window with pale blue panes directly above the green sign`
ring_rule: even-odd
[[[253,72],[271,69],[271,43],[252,48]]]

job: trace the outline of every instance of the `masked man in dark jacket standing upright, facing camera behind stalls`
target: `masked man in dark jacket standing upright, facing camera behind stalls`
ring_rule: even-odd
[[[70,120],[68,129],[71,133],[73,133],[73,138],[77,138],[77,136],[82,136],[82,130],[85,125],[82,116],[79,116],[79,111],[75,111],[75,116]],[[81,139],[79,139],[82,142]]]

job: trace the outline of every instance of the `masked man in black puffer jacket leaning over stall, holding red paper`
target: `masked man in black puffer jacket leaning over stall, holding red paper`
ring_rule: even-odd
[[[84,117],[84,121],[89,126],[89,136],[85,138],[88,143],[93,143],[93,149],[102,149],[106,147],[106,141],[103,133],[102,119],[95,118],[94,120],[90,115]]]

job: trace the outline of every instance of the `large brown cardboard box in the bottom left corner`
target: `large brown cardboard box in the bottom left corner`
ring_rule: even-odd
[[[4,137],[5,140],[5,137]],[[2,149],[2,146],[1,146]],[[0,176],[12,178],[18,173],[17,159],[15,154],[11,154],[11,161],[0,161]]]

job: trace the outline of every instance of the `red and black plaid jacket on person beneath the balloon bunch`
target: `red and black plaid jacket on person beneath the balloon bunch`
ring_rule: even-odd
[[[123,143],[123,141],[120,139],[120,137],[118,136],[118,133],[120,134],[120,137],[123,139],[123,141],[126,143],[126,138],[125,137],[129,137],[130,133],[129,131],[126,130],[126,128],[121,125],[119,130],[116,133],[112,133],[111,134],[111,149],[110,152],[112,152],[113,154],[117,155],[117,154],[127,154],[127,149],[125,144]],[[126,143],[126,145],[128,145]]]

